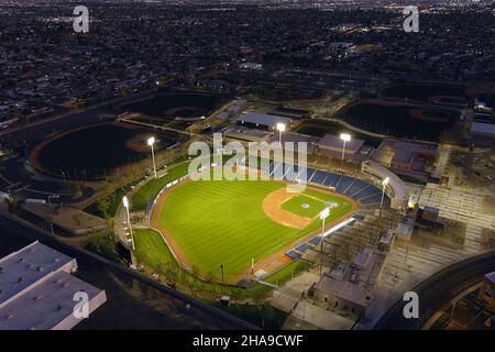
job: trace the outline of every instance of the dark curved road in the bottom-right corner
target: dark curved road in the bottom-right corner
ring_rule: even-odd
[[[399,300],[378,320],[374,329],[420,329],[444,304],[493,271],[495,271],[495,251],[452,264],[431,275],[414,289],[419,296],[419,319],[404,318],[405,302]]]

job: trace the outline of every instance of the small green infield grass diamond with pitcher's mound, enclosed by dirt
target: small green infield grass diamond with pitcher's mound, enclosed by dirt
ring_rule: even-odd
[[[293,197],[282,205],[282,209],[310,219],[318,216],[327,207],[332,208],[331,212],[336,212],[333,218],[344,215],[352,208],[341,197],[322,194],[312,189],[307,189],[301,195]]]

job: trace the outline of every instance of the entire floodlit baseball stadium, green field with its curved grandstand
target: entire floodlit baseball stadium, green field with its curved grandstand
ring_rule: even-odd
[[[358,175],[285,162],[261,164],[250,170],[267,182],[191,182],[184,168],[150,199],[150,227],[162,233],[180,266],[200,277],[219,266],[226,267],[226,282],[232,285],[260,282],[294,260],[320,263],[321,252],[331,246],[333,239],[353,242],[352,256],[362,251],[354,243],[356,237],[363,237],[363,241],[367,237],[370,245],[377,245],[408,206],[409,193],[404,183],[372,161],[363,162]],[[306,190],[286,193],[287,185],[298,185],[301,179],[307,180]],[[258,188],[260,198],[250,202]],[[226,208],[223,202],[228,204]],[[329,206],[332,217],[322,232],[318,216]],[[242,213],[237,212],[238,207]],[[242,252],[252,246],[256,248],[256,255]],[[229,260],[231,252],[234,254]]]

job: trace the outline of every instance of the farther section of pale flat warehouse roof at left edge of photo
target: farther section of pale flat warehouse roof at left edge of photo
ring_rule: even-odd
[[[0,258],[0,307],[50,273],[74,271],[76,261],[40,242]]]

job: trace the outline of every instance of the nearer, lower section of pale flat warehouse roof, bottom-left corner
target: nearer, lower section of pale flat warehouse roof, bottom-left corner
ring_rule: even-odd
[[[0,330],[72,329],[81,321],[74,316],[78,292],[88,294],[89,314],[106,301],[103,290],[58,272],[0,308]]]

